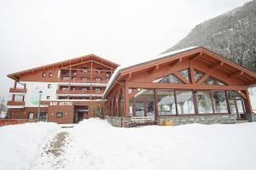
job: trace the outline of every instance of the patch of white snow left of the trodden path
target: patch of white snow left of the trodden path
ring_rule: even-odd
[[[0,169],[30,169],[41,147],[58,129],[50,122],[0,127]]]

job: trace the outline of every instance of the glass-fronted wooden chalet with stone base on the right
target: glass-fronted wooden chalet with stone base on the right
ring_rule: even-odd
[[[207,48],[161,54],[113,73],[103,99],[105,115],[114,126],[143,120],[235,123],[255,121],[247,88],[256,74]]]

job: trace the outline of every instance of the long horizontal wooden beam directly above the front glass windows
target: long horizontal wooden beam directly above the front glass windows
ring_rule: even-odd
[[[126,82],[129,88],[192,89],[192,90],[246,90],[247,86],[171,84],[155,82]]]

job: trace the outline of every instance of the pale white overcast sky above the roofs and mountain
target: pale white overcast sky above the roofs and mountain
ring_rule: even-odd
[[[0,97],[7,74],[97,54],[118,64],[171,48],[248,0],[0,0]]]

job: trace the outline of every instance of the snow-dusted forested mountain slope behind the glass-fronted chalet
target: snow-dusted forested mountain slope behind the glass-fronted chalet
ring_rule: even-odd
[[[164,53],[203,46],[252,71],[256,71],[256,0],[207,20]]]

